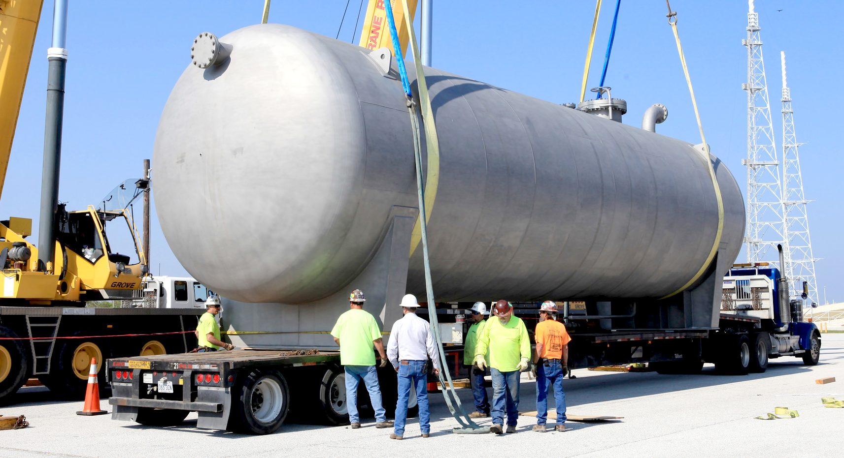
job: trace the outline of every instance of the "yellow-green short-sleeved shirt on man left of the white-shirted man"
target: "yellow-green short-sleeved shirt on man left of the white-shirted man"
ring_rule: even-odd
[[[373,342],[381,338],[375,317],[366,310],[350,309],[337,319],[331,335],[340,339],[340,364],[374,366]]]

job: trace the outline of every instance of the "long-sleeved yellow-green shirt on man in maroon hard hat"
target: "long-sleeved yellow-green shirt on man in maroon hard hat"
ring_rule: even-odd
[[[489,353],[490,367],[501,372],[517,370],[522,358],[530,359],[530,337],[527,337],[524,321],[511,316],[510,321],[502,325],[497,316],[491,316],[478,337],[474,353]]]

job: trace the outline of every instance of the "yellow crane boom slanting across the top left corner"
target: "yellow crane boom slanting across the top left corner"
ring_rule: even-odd
[[[43,4],[42,0],[0,0],[0,195]]]

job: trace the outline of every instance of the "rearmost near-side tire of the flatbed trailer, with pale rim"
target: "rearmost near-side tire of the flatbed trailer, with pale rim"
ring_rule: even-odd
[[[274,433],[287,418],[289,404],[284,375],[275,370],[253,370],[235,381],[227,429],[243,434]]]

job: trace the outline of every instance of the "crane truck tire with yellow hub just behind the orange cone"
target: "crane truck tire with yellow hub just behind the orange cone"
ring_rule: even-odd
[[[74,335],[84,334],[82,331],[77,331]],[[111,358],[107,349],[106,341],[101,338],[59,339],[53,350],[50,374],[41,375],[38,380],[41,380],[41,383],[59,397],[71,400],[83,399],[88,387],[88,373],[93,357],[97,360],[97,384],[100,387],[100,396],[106,396],[111,391],[111,386],[105,383],[106,358]]]

